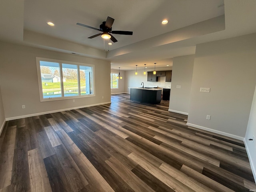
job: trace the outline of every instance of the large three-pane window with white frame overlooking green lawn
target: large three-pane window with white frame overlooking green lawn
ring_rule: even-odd
[[[36,58],[41,101],[94,96],[94,65]]]

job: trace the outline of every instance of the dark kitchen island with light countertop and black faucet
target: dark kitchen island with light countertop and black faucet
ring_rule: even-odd
[[[141,103],[158,104],[161,102],[162,89],[130,88],[130,100]]]

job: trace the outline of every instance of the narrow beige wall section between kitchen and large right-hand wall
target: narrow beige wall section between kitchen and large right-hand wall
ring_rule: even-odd
[[[193,66],[194,55],[173,58],[172,89],[168,111],[188,115]],[[176,88],[177,85],[180,88]]]

